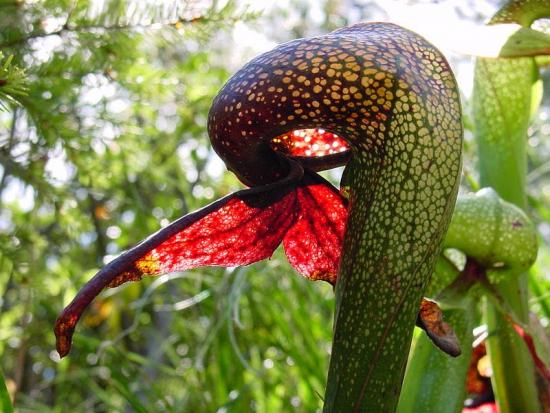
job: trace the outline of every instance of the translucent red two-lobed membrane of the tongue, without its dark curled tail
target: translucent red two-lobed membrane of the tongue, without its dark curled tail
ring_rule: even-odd
[[[143,275],[159,275],[204,265],[247,265],[271,257],[284,237],[289,261],[300,274],[334,284],[346,214],[338,191],[307,173],[297,187],[230,199],[135,266]]]

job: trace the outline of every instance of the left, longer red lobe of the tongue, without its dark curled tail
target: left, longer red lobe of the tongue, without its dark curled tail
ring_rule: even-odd
[[[234,197],[136,262],[146,275],[203,265],[235,267],[271,257],[296,219],[296,192]]]

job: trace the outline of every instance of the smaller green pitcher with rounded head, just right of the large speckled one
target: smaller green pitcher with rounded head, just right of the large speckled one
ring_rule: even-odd
[[[537,256],[536,229],[521,209],[484,188],[458,198],[444,247],[475,259],[488,270],[491,281],[498,282],[533,264]],[[428,294],[436,300],[443,298],[438,293],[458,275],[449,261],[438,260]],[[460,341],[462,354],[450,358],[422,334],[411,353],[399,413],[462,411],[480,290],[473,287],[455,295],[453,302],[444,303],[451,307],[444,311],[444,317]]]

